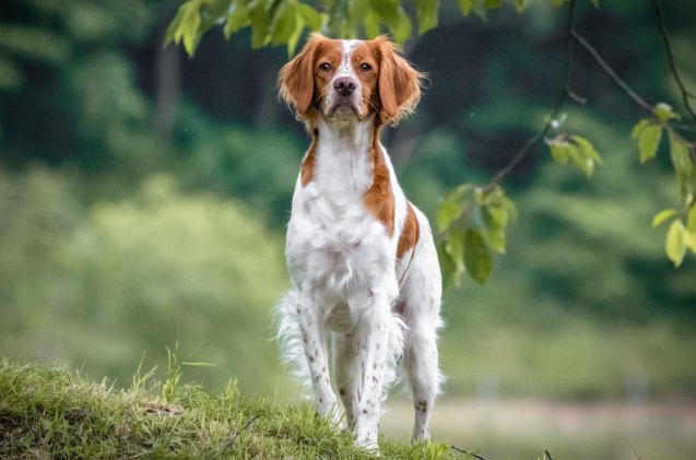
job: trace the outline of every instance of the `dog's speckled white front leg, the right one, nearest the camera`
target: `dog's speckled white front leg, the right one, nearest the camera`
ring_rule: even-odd
[[[389,302],[386,295],[369,293],[361,308],[355,340],[359,361],[357,401],[354,404],[355,443],[378,450],[377,430],[381,413],[382,374],[389,343]]]

